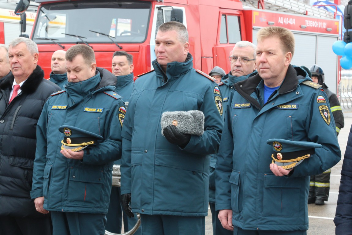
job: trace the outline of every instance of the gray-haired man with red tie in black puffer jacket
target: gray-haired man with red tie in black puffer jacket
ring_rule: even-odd
[[[37,121],[60,88],[43,79],[32,40],[14,39],[8,54],[12,72],[0,83],[0,234],[51,234],[50,216],[36,211],[30,190]]]

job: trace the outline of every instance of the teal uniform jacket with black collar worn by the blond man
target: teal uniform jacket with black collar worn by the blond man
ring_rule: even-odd
[[[264,83],[258,74],[234,85],[215,167],[215,206],[216,210],[232,209],[235,226],[308,229],[309,175],[341,159],[329,101],[314,86],[319,85],[303,69],[292,66],[265,105]],[[289,177],[277,177],[269,168],[273,151],[266,141],[271,138],[310,141],[323,147],[315,149]]]

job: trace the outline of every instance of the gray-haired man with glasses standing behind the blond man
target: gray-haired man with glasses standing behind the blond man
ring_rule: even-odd
[[[236,82],[245,80],[256,70],[256,48],[257,46],[248,41],[236,43],[230,52],[231,71],[221,78],[218,84],[224,103],[226,113],[228,97],[233,90],[232,85]],[[223,115],[225,117],[225,115]],[[232,231],[222,227],[218,219],[219,211],[215,210],[215,165],[216,155],[210,155],[210,176],[209,176],[209,207],[212,212],[214,235],[232,235]]]

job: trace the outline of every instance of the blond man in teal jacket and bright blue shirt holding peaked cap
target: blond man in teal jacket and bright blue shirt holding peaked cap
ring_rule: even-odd
[[[216,161],[216,204],[234,235],[306,235],[309,175],[341,159],[326,93],[292,66],[295,38],[257,33],[258,73],[233,85]]]

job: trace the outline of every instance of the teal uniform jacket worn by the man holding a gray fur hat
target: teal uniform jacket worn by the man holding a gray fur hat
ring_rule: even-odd
[[[189,54],[186,62],[168,63],[166,74],[153,61],[155,71],[134,83],[122,129],[121,164],[121,194],[131,193],[133,212],[208,214],[208,155],[220,144],[222,98],[216,83],[193,69],[192,61]],[[182,149],[162,136],[161,116],[190,110],[204,113],[204,133],[191,135]]]

